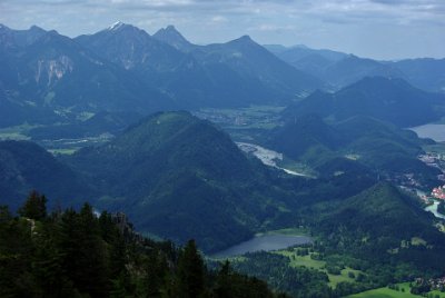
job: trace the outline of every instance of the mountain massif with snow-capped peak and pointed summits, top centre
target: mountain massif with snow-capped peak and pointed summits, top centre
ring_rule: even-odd
[[[185,109],[288,102],[322,86],[248,37],[195,46],[171,26],[150,37],[118,23],[76,41],[168,93]]]

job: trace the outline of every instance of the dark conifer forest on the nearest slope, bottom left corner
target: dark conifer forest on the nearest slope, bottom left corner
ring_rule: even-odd
[[[49,213],[46,203],[33,191],[18,216],[0,208],[0,297],[278,296],[228,262],[207,269],[194,240],[157,242],[123,213],[88,203]]]

